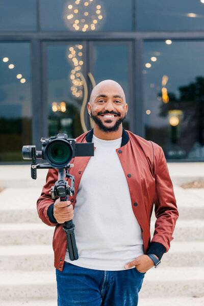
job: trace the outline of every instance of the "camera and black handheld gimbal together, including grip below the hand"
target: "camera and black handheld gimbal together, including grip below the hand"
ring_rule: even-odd
[[[69,174],[69,164],[74,156],[93,156],[93,143],[75,143],[74,139],[68,139],[66,134],[58,134],[57,137],[42,138],[42,151],[36,151],[35,145],[22,147],[23,159],[32,159],[31,177],[37,179],[37,169],[58,168],[58,181],[52,186],[50,194],[52,199],[56,196],[60,201],[68,201],[69,195],[74,195],[74,176]],[[38,164],[37,158],[48,161],[48,164]],[[71,180],[70,186],[65,177]],[[74,236],[74,224],[72,220],[64,222],[63,229],[66,233],[67,247],[71,261],[77,260],[78,250]]]

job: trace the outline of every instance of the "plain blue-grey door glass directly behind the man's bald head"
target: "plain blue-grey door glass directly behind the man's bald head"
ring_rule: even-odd
[[[118,82],[125,93],[129,112],[123,122],[124,129],[130,129],[131,89],[129,75],[129,53],[127,45],[104,45],[94,43],[93,76],[96,84],[103,80]]]

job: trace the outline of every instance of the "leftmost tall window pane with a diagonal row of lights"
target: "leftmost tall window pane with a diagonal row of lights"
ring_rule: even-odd
[[[0,43],[0,162],[23,161],[32,144],[30,43]]]

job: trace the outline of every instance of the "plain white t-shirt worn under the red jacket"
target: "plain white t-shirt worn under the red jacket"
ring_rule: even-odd
[[[121,139],[102,140],[81,178],[73,223],[79,259],[65,261],[96,270],[124,270],[144,254],[141,228],[133,213],[129,187],[116,149]]]

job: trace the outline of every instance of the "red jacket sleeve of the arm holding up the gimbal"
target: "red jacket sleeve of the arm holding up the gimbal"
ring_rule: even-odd
[[[49,169],[46,177],[46,184],[42,189],[41,196],[37,200],[37,211],[40,219],[49,226],[57,225],[57,220],[53,216],[55,199],[52,199],[49,191],[58,180],[58,170]]]

